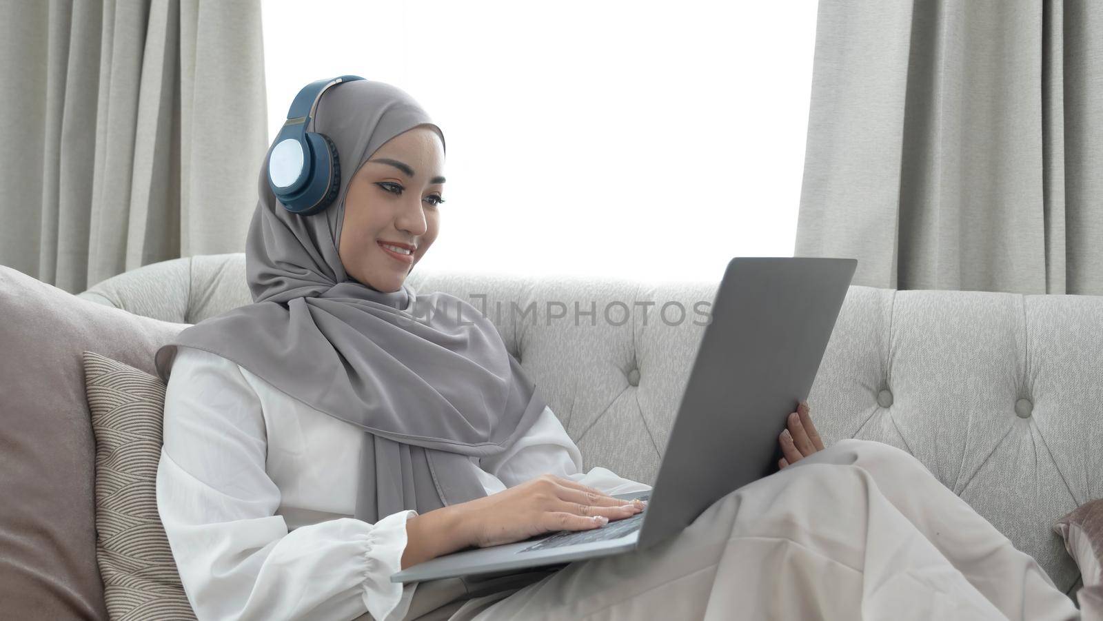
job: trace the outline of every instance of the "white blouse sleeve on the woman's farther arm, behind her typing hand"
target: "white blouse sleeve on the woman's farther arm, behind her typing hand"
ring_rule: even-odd
[[[508,450],[480,459],[479,467],[497,477],[506,488],[549,473],[607,494],[651,489],[651,485],[624,479],[600,465],[583,473],[582,452],[550,407],[544,408],[536,422]]]

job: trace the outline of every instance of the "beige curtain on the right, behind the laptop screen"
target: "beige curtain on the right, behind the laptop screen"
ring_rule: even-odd
[[[821,0],[794,255],[1103,295],[1103,2]]]

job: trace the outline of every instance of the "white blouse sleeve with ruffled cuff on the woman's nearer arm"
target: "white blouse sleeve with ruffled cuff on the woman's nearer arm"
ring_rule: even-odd
[[[392,582],[406,548],[403,511],[288,533],[265,471],[260,401],[236,363],[180,347],[165,390],[157,505],[200,620],[406,614],[416,582]]]

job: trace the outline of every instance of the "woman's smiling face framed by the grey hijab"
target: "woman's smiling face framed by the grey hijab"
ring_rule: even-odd
[[[379,291],[397,291],[437,238],[443,196],[445,146],[417,126],[379,147],[345,193],[338,254],[350,277]],[[414,247],[403,260],[381,243]]]

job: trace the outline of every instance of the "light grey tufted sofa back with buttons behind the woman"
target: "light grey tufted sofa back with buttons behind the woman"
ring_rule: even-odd
[[[704,330],[694,304],[718,282],[420,268],[408,282],[485,309],[587,470],[654,482]],[[148,265],[79,296],[181,323],[253,301],[244,254]],[[852,286],[808,401],[826,442],[909,451],[1071,595],[1080,575],[1051,526],[1103,496],[1101,352],[1103,297]]]

